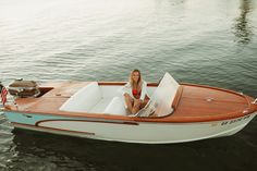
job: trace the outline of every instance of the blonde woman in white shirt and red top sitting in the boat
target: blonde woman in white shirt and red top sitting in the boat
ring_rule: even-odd
[[[123,87],[125,103],[132,114],[137,113],[148,102],[146,86],[147,83],[143,81],[140,71],[133,70],[128,83]]]

